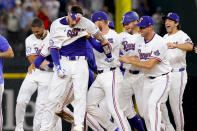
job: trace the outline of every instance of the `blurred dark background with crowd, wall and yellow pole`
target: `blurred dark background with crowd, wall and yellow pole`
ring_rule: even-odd
[[[5,91],[3,96],[3,131],[15,128],[15,105],[20,85],[29,65],[25,57],[25,39],[31,34],[31,21],[39,17],[49,29],[53,20],[65,16],[72,5],[81,5],[85,17],[91,18],[95,11],[105,11],[109,19],[115,22],[116,31],[122,31],[122,15],[127,11],[136,11],[140,16],[150,15],[155,22],[155,32],[163,36],[166,31],[162,16],[175,12],[180,16],[181,28],[193,43],[197,43],[197,0],[0,0],[0,34],[6,37],[12,46],[15,58],[4,61]],[[197,54],[187,53],[188,83],[184,93],[183,110],[185,131],[194,131],[197,122]],[[32,130],[36,93],[28,104],[24,128]],[[172,118],[172,116],[171,116]],[[173,122],[173,119],[172,123]],[[64,122],[64,131],[70,125]]]

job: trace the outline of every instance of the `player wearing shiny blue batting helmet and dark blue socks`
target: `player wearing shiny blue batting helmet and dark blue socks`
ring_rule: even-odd
[[[121,41],[121,52],[127,56],[138,56],[136,40],[141,38],[139,34],[139,27],[136,24],[139,21],[139,16],[134,11],[129,11],[123,15],[122,24],[124,26],[124,32],[119,34]],[[124,79],[122,82],[120,93],[120,105],[125,111],[125,115],[128,117],[130,123],[138,131],[144,131],[143,123],[139,115],[136,114],[132,96],[135,95],[139,112],[142,115],[141,105],[141,88],[143,86],[143,73],[139,67],[131,64],[123,64],[123,68],[126,69],[124,73]]]

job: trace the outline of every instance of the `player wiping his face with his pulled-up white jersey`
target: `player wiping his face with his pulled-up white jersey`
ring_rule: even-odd
[[[72,6],[68,16],[55,20],[51,25],[51,56],[55,65],[46,111],[43,116],[41,131],[51,131],[56,123],[57,104],[63,95],[67,95],[73,83],[74,90],[74,131],[82,131],[86,110],[86,92],[88,87],[88,63],[85,36],[90,32],[102,44],[108,61],[112,61],[109,43],[99,29],[82,16],[79,6]],[[52,119],[48,119],[51,116]]]

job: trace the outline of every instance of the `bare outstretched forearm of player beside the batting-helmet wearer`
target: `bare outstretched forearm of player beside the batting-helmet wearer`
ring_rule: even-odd
[[[140,67],[140,68],[145,68],[145,69],[152,69],[157,63],[160,61],[154,58],[149,58],[148,61],[140,61],[137,57],[134,56],[120,56],[120,62],[127,63],[127,64],[132,64],[134,66]]]

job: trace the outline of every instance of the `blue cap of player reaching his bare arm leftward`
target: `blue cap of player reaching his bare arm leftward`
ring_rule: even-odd
[[[153,21],[152,17],[150,17],[150,16],[142,16],[140,18],[140,22],[136,25],[139,27],[145,28],[145,27],[154,25],[154,21]]]

